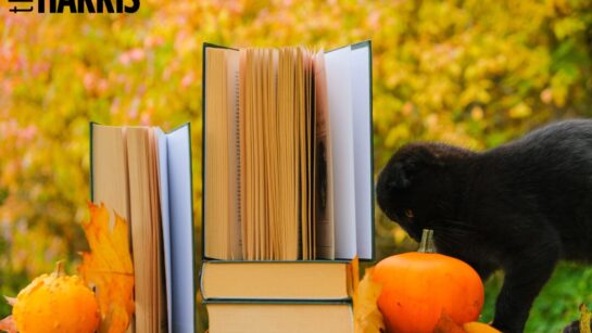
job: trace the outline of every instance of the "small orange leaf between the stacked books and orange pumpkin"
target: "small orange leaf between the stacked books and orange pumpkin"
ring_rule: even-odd
[[[377,300],[382,285],[373,278],[374,268],[367,268],[353,294],[354,329],[356,333],[379,333],[386,330],[385,319]]]

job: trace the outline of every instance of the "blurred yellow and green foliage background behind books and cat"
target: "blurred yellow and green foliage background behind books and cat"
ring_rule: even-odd
[[[89,120],[163,129],[190,120],[201,175],[202,42],[331,49],[364,39],[376,172],[410,141],[484,150],[592,115],[591,0],[142,0],[128,15],[13,14],[2,2],[0,294],[61,258],[73,271],[86,247]],[[193,189],[199,225],[199,177]],[[377,210],[378,259],[414,248]],[[502,279],[487,285],[483,321]],[[558,332],[582,302],[592,303],[592,269],[559,266],[527,332]]]

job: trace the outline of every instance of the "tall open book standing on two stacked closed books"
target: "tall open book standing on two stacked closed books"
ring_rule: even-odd
[[[371,47],[203,47],[211,333],[353,332],[374,258]]]

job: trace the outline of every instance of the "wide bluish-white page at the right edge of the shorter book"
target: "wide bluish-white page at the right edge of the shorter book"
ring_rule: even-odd
[[[173,329],[194,332],[193,219],[189,125],[166,135],[173,278]]]

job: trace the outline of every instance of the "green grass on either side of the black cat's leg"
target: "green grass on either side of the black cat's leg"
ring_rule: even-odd
[[[493,320],[495,298],[503,284],[503,274],[496,273],[486,284],[486,304],[480,321]],[[542,290],[530,310],[525,332],[562,332],[579,319],[581,303],[592,305],[592,266],[562,262]]]

